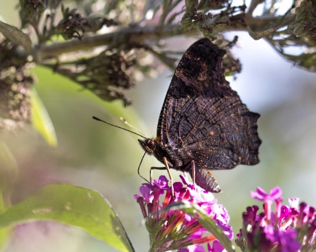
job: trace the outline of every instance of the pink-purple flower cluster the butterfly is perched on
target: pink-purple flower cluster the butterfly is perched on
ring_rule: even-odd
[[[207,244],[207,251],[224,251],[218,240],[200,223],[179,209],[161,211],[164,207],[177,202],[199,205],[214,220],[223,233],[232,240],[232,227],[228,225],[229,215],[222,205],[218,205],[213,194],[188,183],[181,175],[181,182],[173,184],[174,197],[168,186],[166,176],[157,181],[144,183],[134,198],[142,209],[146,228],[150,236],[150,251],[200,252],[205,251],[201,244]],[[184,184],[184,185],[183,185]],[[211,245],[212,242],[212,245]]]

